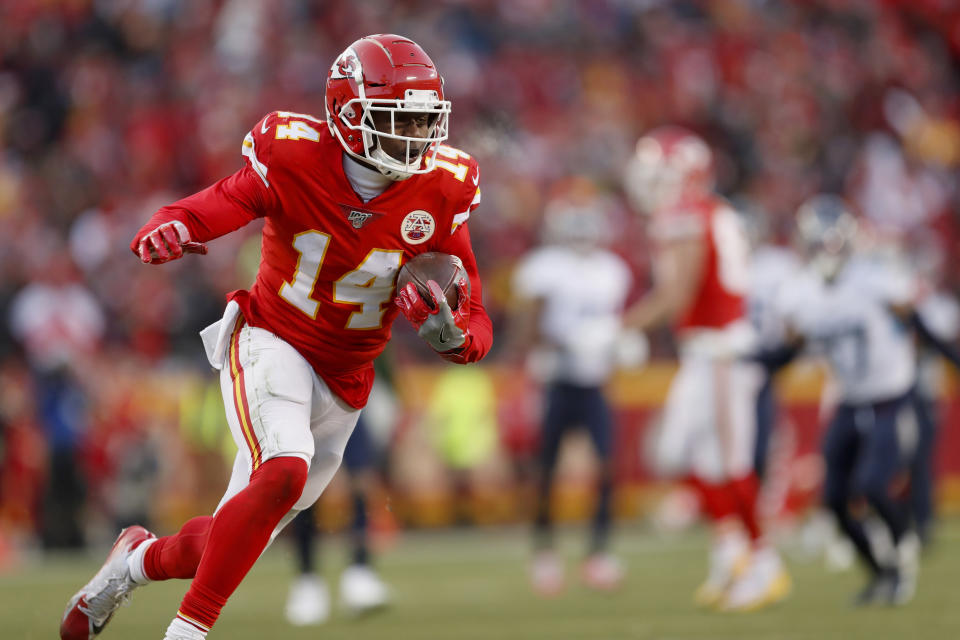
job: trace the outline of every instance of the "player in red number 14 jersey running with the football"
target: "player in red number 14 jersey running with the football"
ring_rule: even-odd
[[[450,102],[433,61],[401,36],[361,38],[330,68],[325,100],[326,118],[265,116],[243,140],[242,169],[163,207],[133,239],[142,262],[160,264],[265,219],[256,282],[228,294],[223,318],[202,332],[239,452],[212,516],[162,538],[121,532],[71,598],[61,638],[99,634],[135,587],[170,578],[192,583],[165,637],[206,637],[266,546],[333,477],[398,313],[449,362],[490,348],[467,227],[479,170],[443,144]],[[401,265],[425,251],[463,261],[472,293],[458,308],[434,282],[433,300],[412,284],[394,298]]]

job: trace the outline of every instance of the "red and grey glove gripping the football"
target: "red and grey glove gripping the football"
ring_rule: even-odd
[[[459,296],[455,311],[450,309],[443,290],[433,280],[427,282],[433,298],[433,308],[427,305],[427,301],[423,299],[412,282],[407,283],[407,286],[394,299],[403,315],[417,329],[417,335],[439,353],[457,349],[467,341],[470,319],[467,281],[461,278],[456,286]]]

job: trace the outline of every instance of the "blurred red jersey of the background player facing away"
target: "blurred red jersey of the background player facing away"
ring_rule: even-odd
[[[736,212],[719,198],[687,201],[654,216],[654,237],[696,236],[706,244],[697,292],[676,329],[719,329],[746,316],[749,242]]]

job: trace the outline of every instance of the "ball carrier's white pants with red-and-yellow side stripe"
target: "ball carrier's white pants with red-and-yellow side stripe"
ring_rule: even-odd
[[[247,325],[234,302],[200,335],[210,364],[220,370],[227,422],[238,449],[217,511],[271,458],[294,456],[309,466],[303,493],[274,529],[272,542],[330,484],[360,410],[330,391],[287,342]]]

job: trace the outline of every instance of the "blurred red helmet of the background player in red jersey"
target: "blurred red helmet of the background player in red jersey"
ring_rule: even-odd
[[[651,214],[714,186],[713,153],[702,138],[675,126],[657,127],[638,141],[624,188],[640,213]]]

